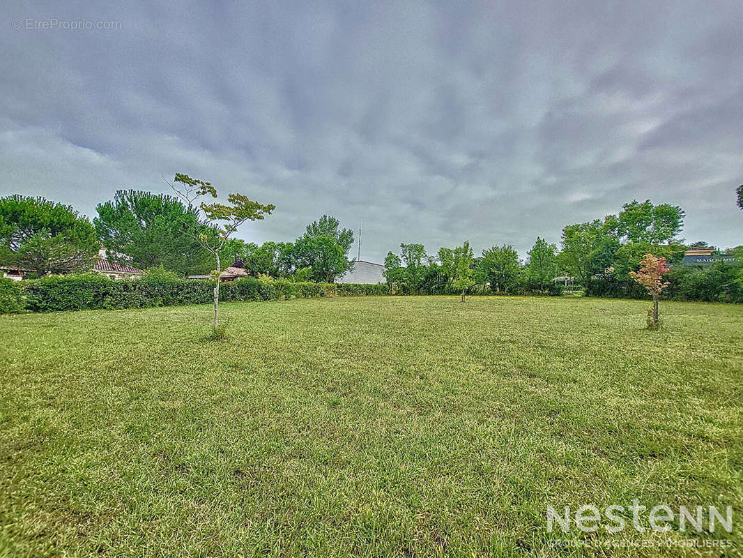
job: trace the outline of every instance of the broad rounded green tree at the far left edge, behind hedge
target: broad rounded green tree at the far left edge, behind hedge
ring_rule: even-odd
[[[46,273],[82,272],[94,266],[94,226],[69,205],[18,194],[0,199],[0,262]]]

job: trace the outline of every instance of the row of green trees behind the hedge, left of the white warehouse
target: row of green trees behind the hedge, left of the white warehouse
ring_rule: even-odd
[[[188,186],[188,180],[193,179],[176,175],[174,183]],[[224,216],[228,206],[206,207],[211,217],[218,217],[214,211]],[[250,275],[317,283],[332,283],[352,265],[348,252],[353,231],[341,228],[330,215],[307,225],[293,243],[258,246],[224,237],[226,232],[201,206],[162,193],[120,190],[97,206],[92,222],[74,208],[47,199],[17,194],[0,199],[1,265],[27,269],[32,275],[87,271],[101,246],[109,260],[140,269],[163,268],[181,277],[211,272],[215,257],[222,269],[237,264]]]

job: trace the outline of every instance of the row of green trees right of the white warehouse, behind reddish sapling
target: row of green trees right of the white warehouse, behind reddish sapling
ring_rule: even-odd
[[[736,193],[743,208],[743,187]],[[678,265],[690,246],[707,246],[704,241],[687,245],[681,240],[684,217],[677,205],[633,200],[618,214],[565,226],[560,248],[537,237],[525,261],[507,244],[466,257],[469,243],[439,248],[435,254],[428,254],[422,244],[403,243],[399,253],[387,254],[384,274],[402,294],[458,292],[469,281],[478,292],[560,295],[562,283],[556,278],[562,277],[586,295],[640,298],[643,286],[630,274],[641,268],[646,254],[653,254],[675,266],[668,291],[675,298],[743,301],[742,246],[729,250],[737,255],[734,265],[720,263],[707,269]],[[465,261],[468,274],[461,272]]]

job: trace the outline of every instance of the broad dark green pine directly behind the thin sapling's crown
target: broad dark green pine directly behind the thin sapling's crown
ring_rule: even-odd
[[[164,194],[119,190],[96,209],[95,227],[109,259],[143,269],[163,266],[181,275],[211,268],[210,252],[191,234],[214,233],[199,222],[198,208]]]

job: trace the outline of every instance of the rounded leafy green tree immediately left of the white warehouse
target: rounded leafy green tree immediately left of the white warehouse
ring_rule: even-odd
[[[307,225],[305,234],[294,243],[296,269],[311,267],[315,281],[333,283],[353,267],[348,259],[353,243],[353,231],[340,228],[335,217],[323,215]]]

